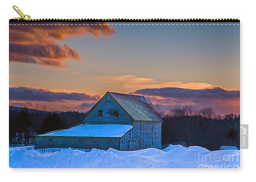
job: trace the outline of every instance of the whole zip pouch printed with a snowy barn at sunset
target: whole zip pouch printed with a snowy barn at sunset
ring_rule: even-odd
[[[9,21],[11,168],[238,168],[238,19]]]

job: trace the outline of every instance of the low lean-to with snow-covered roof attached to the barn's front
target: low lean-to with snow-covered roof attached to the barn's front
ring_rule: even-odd
[[[131,125],[79,125],[36,136],[36,148],[128,150]]]

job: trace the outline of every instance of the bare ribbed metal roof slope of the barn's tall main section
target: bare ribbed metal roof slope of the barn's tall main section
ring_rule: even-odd
[[[133,118],[134,121],[159,121],[163,120],[148,105],[142,95],[110,93],[123,109]]]

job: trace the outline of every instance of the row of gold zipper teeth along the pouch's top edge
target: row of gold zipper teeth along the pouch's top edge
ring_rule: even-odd
[[[90,21],[90,22],[218,22],[218,21],[236,21],[239,19],[32,19],[32,21]]]

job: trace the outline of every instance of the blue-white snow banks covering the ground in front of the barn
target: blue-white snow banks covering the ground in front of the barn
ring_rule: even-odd
[[[59,150],[42,153],[32,146],[9,147],[9,165],[11,168],[238,168],[240,164],[240,150],[209,151],[199,146],[170,145],[163,150],[136,151]]]

